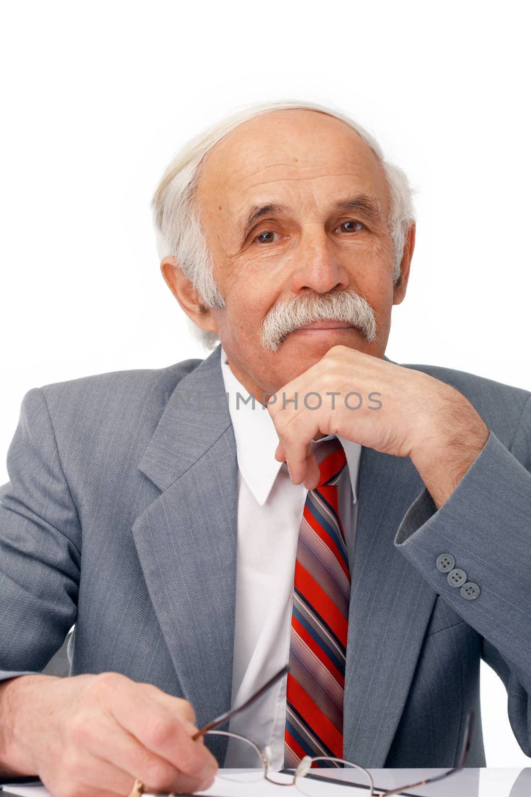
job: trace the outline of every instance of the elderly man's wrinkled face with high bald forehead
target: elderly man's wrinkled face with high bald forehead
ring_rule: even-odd
[[[354,194],[373,212],[338,208]],[[337,344],[384,354],[392,304],[404,296],[407,273],[393,289],[384,171],[352,128],[306,110],[249,120],[209,152],[197,198],[226,302],[210,309],[201,327],[217,332],[248,391],[278,391]],[[250,210],[270,205],[244,229]],[[311,307],[319,296],[342,291],[364,296],[373,308],[377,340],[336,322],[295,329],[274,351],[264,347],[262,325],[275,305],[306,295]]]

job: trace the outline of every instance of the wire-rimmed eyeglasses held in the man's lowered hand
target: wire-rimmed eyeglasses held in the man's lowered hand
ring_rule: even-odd
[[[216,728],[218,728],[219,725],[224,724],[230,717],[234,717],[235,714],[246,709],[248,705],[254,703],[254,701],[261,697],[261,695],[263,695],[267,689],[270,689],[270,687],[274,685],[276,681],[279,681],[280,678],[286,675],[289,672],[289,669],[289,665],[283,667],[283,669],[279,670],[276,675],[274,675],[269,681],[267,681],[266,684],[264,684],[264,686],[262,686],[255,694],[253,694],[252,697],[249,697],[248,701],[245,701],[243,705],[238,706],[236,709],[231,709],[225,714],[222,714],[221,717],[217,717],[216,720],[209,722],[192,736],[193,740],[199,739],[200,736],[227,736],[228,754],[230,753],[231,756],[236,756],[238,761],[245,762],[244,768],[242,768],[241,771],[221,771],[217,774],[218,778],[223,780],[233,780],[237,781],[238,783],[252,783],[265,779],[276,787],[295,786],[295,788],[303,795],[306,795],[306,797],[320,797],[320,795],[322,795],[323,782],[327,784],[326,795],[329,795],[331,791],[342,791],[342,794],[344,795],[344,787],[356,786],[358,788],[367,789],[367,797],[391,797],[391,795],[404,795],[408,789],[425,786],[428,783],[435,783],[437,780],[443,780],[444,778],[447,778],[449,775],[453,775],[454,772],[458,772],[463,768],[465,760],[467,759],[467,753],[470,748],[470,734],[474,721],[474,712],[472,711],[467,714],[465,732],[463,736],[463,747],[459,755],[459,762],[457,766],[453,769],[442,772],[439,775],[434,775],[431,778],[420,780],[418,783],[408,783],[406,786],[400,786],[398,788],[385,791],[385,789],[381,789],[374,785],[373,776],[369,770],[361,767],[360,764],[353,764],[352,761],[347,761],[341,758],[332,758],[329,756],[304,756],[304,758],[299,762],[299,766],[295,769],[295,771],[290,771],[289,776],[287,775],[286,771],[280,773],[274,771],[271,773],[270,753],[268,750],[265,752],[262,751],[252,740],[248,739],[246,736],[240,736],[239,733],[233,733],[232,731],[220,731],[216,730]],[[317,768],[333,768],[338,777],[331,778],[328,775],[316,775],[314,771],[310,772],[310,769],[314,770]],[[162,794],[162,792],[158,792],[158,795]],[[171,792],[169,797],[177,797],[177,794],[175,792]]]

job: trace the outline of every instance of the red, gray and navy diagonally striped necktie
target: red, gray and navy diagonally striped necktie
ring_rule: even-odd
[[[284,764],[343,756],[343,691],[350,573],[338,512],[346,465],[338,438],[312,443],[320,478],[299,530],[287,676]]]

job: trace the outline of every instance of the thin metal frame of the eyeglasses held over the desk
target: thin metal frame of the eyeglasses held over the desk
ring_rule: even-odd
[[[258,698],[261,697],[264,694],[264,692],[267,692],[267,689],[269,689],[272,685],[274,685],[276,683],[276,681],[279,681],[279,679],[282,678],[284,675],[286,675],[289,671],[290,671],[290,666],[289,665],[286,665],[285,667],[280,669],[278,673],[276,673],[272,678],[270,678],[270,680],[267,681],[267,683],[265,683],[264,686],[261,686],[260,689],[258,689],[256,691],[256,693],[252,694],[252,696],[249,697],[248,700],[245,701],[242,705],[236,706],[236,709],[230,709],[229,711],[225,712],[225,714],[221,714],[220,717],[217,717],[215,720],[212,720],[211,722],[207,723],[202,728],[199,728],[199,730],[193,734],[192,739],[194,741],[196,741],[201,736],[206,736],[208,734],[214,735],[214,734],[217,733],[220,736],[229,736],[229,737],[232,737],[234,739],[240,739],[241,741],[244,741],[244,742],[247,742],[248,744],[251,744],[252,748],[254,748],[256,750],[256,753],[258,754],[258,756],[260,756],[260,759],[262,760],[262,763],[264,764],[264,779],[266,779],[268,783],[273,783],[275,786],[295,786],[296,782],[297,782],[297,778],[298,777],[306,777],[308,775],[309,771],[310,771],[311,765],[314,764],[314,762],[316,762],[316,761],[333,761],[334,763],[336,763],[338,765],[339,764],[348,764],[349,767],[353,767],[353,768],[355,768],[357,770],[363,771],[365,773],[365,775],[367,776],[367,779],[369,780],[369,783],[370,783],[370,794],[368,795],[368,797],[392,797],[392,795],[404,794],[406,789],[412,789],[412,788],[416,788],[416,787],[419,787],[419,786],[426,786],[428,783],[435,783],[435,781],[443,780],[444,778],[447,778],[448,775],[453,775],[454,772],[458,772],[460,769],[463,769],[465,761],[467,760],[468,751],[470,749],[470,735],[471,735],[472,726],[473,726],[473,723],[474,723],[474,712],[473,711],[469,711],[467,713],[467,718],[465,720],[465,731],[464,731],[464,735],[463,735],[463,745],[462,745],[462,748],[461,748],[461,752],[459,754],[459,760],[458,760],[457,766],[447,770],[446,772],[441,772],[439,775],[433,775],[431,778],[420,780],[420,781],[418,781],[418,783],[408,783],[408,785],[400,786],[398,788],[394,788],[391,791],[383,791],[381,788],[374,786],[373,776],[371,775],[371,773],[369,772],[368,769],[365,769],[365,767],[362,767],[361,764],[354,764],[353,761],[348,761],[348,760],[342,759],[342,758],[334,758],[334,756],[314,756],[314,757],[312,757],[312,756],[304,756],[299,761],[299,765],[297,766],[297,768],[295,768],[295,770],[293,771],[293,781],[291,783],[281,783],[281,782],[279,782],[277,780],[271,779],[268,776],[269,758],[259,748],[259,746],[256,744],[256,742],[253,742],[251,739],[248,739],[247,736],[241,736],[239,733],[234,733],[232,731],[219,731],[216,728],[218,728],[222,724],[225,724],[225,722],[230,717],[234,717],[235,714],[240,713],[240,711],[243,711],[244,709],[246,709],[248,707],[248,705],[251,705],[252,703],[254,703],[254,701],[258,700]],[[338,768],[340,768],[340,767],[338,766]],[[356,786],[359,786],[361,788],[368,788],[364,784],[360,784],[360,783],[352,783],[351,784],[351,783],[349,783],[346,780],[341,780],[341,779],[336,779],[336,778],[329,778],[329,777],[322,777],[321,775],[314,775],[314,773],[311,773],[309,776],[310,776],[311,779],[322,780],[322,781],[324,781],[326,783],[334,783],[334,784],[340,785],[340,786],[347,786],[348,787],[349,785],[356,785]],[[375,793],[374,793],[374,789],[375,788],[377,789],[378,792],[381,792],[381,794],[375,795]],[[143,788],[139,788],[139,795],[142,795],[142,794],[143,794]],[[165,794],[165,792],[158,792],[158,795],[164,795],[164,794]],[[178,792],[175,792],[175,791],[168,792],[167,794],[168,794],[168,797],[178,797]],[[411,795],[411,797],[416,797],[416,795]]]

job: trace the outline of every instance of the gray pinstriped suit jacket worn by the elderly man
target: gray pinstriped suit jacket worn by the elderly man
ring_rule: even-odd
[[[484,766],[481,658],[531,756],[531,394],[406,367],[466,395],[490,437],[439,510],[408,457],[362,448],[345,756],[452,767],[474,709],[467,766]],[[228,709],[237,462],[223,391],[218,346],[25,394],[0,488],[0,677],[41,671],[75,623],[71,675],[152,683],[200,726]],[[442,553],[478,598],[435,567]],[[224,746],[213,752],[222,764]]]

